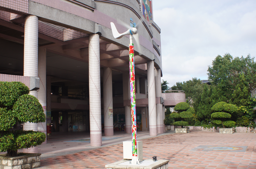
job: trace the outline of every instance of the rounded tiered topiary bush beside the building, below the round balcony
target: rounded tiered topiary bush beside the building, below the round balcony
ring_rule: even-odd
[[[173,125],[181,126],[188,126],[189,122],[193,120],[193,114],[195,114],[195,110],[193,107],[190,107],[186,102],[180,102],[175,107],[174,110],[178,113],[171,113],[169,115],[170,118],[175,119]]]

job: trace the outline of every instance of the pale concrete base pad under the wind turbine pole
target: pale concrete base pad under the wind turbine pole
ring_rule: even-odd
[[[157,160],[153,161],[153,159],[147,159],[142,161],[140,164],[129,164],[130,160],[121,160],[115,163],[107,164],[105,167],[107,169],[168,169],[169,160]]]

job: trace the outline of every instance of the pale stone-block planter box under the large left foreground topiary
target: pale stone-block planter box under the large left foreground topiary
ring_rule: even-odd
[[[16,157],[1,157],[0,169],[30,169],[40,167],[40,153],[27,153]]]

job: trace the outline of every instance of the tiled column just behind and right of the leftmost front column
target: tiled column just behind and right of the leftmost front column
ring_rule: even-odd
[[[46,48],[39,47],[38,48],[38,77],[40,78],[39,81],[39,91],[38,91],[38,100],[41,103],[44,113],[46,115]],[[46,121],[43,123],[37,124],[38,131],[46,133]],[[42,144],[46,144],[47,139]]]

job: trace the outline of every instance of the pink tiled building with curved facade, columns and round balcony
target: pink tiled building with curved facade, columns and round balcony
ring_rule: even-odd
[[[23,124],[24,130],[88,131],[91,146],[101,146],[102,133],[131,133],[130,41],[128,35],[115,39],[110,26],[123,33],[124,22],[140,24],[140,44],[134,42],[137,127],[163,133],[164,106],[185,101],[185,94],[162,95],[161,30],[148,2],[1,1],[0,81],[26,84],[47,117]]]

